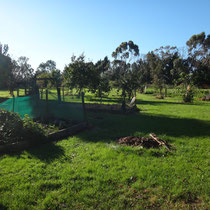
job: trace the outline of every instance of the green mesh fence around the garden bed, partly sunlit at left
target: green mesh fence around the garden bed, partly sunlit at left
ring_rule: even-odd
[[[0,109],[14,111],[23,118],[26,114],[31,118],[56,118],[75,121],[84,120],[82,98],[74,96],[58,97],[55,91],[39,95],[10,98],[0,103]]]

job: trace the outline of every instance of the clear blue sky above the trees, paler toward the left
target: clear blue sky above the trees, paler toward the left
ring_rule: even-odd
[[[182,47],[210,33],[210,0],[0,0],[0,42],[33,68],[52,59],[63,70],[72,54],[96,62],[123,41],[140,53]]]

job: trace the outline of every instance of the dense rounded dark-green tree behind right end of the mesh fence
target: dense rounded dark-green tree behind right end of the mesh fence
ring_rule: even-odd
[[[64,78],[70,89],[76,88],[79,96],[84,88],[89,88],[91,80],[94,78],[94,64],[85,62],[82,54],[78,58],[71,57],[71,63],[64,69]]]

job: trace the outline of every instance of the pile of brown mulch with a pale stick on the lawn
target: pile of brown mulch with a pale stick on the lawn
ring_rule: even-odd
[[[160,148],[165,147],[170,151],[171,145],[156,137],[155,134],[151,133],[150,137],[137,137],[137,136],[126,136],[117,140],[119,144],[128,146],[142,146],[145,148]]]

